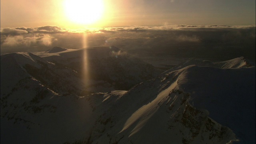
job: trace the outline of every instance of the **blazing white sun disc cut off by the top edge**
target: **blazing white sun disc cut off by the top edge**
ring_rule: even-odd
[[[104,11],[102,0],[65,0],[68,19],[76,24],[93,24],[100,20]]]

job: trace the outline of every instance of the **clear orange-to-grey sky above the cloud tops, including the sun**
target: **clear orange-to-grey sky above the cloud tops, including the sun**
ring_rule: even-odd
[[[255,0],[1,0],[1,28],[255,25]],[[98,12],[98,14],[97,14]],[[93,22],[81,20],[94,17]],[[79,20],[72,20],[72,18]],[[89,20],[90,21],[90,20]]]

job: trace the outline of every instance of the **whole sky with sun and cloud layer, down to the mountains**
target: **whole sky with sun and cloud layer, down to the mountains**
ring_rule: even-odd
[[[255,60],[255,0],[1,0],[0,52],[117,46]]]

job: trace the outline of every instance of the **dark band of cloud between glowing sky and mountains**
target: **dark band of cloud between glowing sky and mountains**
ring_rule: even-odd
[[[220,48],[230,49],[230,51],[254,50],[252,52],[255,53],[255,33],[255,25],[133,26],[90,30],[43,26],[1,28],[0,44],[1,53],[45,51],[54,46],[84,48],[107,45],[140,54],[142,52],[178,54],[188,51],[193,53],[198,49],[216,51]]]

